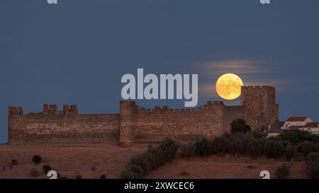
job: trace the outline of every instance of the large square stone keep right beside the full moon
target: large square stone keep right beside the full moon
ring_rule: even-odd
[[[242,106],[252,130],[267,129],[279,119],[276,90],[272,86],[242,86]]]

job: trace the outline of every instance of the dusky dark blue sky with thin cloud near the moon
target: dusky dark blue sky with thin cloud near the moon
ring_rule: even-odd
[[[121,76],[198,74],[199,102],[222,100],[224,73],[276,86],[280,118],[319,121],[319,1],[0,1],[0,143],[7,107],[44,103],[80,113],[119,111]],[[239,100],[227,102],[228,105]],[[139,105],[184,107],[181,100]]]

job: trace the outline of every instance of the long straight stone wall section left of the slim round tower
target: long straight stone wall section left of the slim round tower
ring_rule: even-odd
[[[117,143],[119,116],[10,115],[10,144]]]

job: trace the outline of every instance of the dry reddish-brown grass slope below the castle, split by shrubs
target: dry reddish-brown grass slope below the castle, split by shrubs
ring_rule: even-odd
[[[120,148],[111,144],[67,144],[43,146],[0,145],[0,178],[35,178],[30,170],[36,168],[37,178],[48,178],[42,168],[50,165],[68,178],[82,175],[83,178],[118,178],[121,170],[133,156],[144,152],[147,144],[136,144],[131,148]],[[35,165],[33,155],[40,155],[43,162]],[[16,159],[17,165],[11,165]],[[306,178],[303,161],[290,163],[286,160],[252,159],[245,156],[209,156],[207,158],[177,157],[171,163],[152,171],[148,178],[261,178],[261,170],[274,170],[282,164],[291,169],[291,178]],[[95,170],[92,170],[94,168]]]

